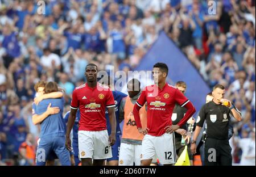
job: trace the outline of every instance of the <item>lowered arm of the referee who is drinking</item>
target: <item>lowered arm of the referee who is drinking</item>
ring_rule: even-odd
[[[205,105],[201,108],[199,112],[199,116],[197,117],[197,120],[196,120],[196,129],[195,129],[195,132],[193,133],[191,147],[190,147],[192,154],[196,154],[196,140],[197,140],[197,137],[199,136],[201,128],[204,125],[204,121],[205,121]]]

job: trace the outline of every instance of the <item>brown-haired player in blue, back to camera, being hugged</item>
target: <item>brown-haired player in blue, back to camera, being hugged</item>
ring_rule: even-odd
[[[57,83],[48,82],[44,93],[58,91]],[[61,165],[71,165],[69,151],[65,148],[65,121],[63,119],[64,99],[44,99],[35,107],[36,115],[43,115],[49,106],[59,107],[60,112],[49,115],[41,125],[40,141],[36,151],[36,165],[46,165],[46,159],[53,152],[57,155]]]

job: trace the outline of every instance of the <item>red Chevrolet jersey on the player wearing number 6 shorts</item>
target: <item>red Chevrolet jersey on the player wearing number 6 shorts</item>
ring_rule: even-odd
[[[73,91],[72,109],[80,109],[79,130],[106,130],[105,109],[115,107],[114,97],[109,87],[97,83],[91,88],[85,83]]]

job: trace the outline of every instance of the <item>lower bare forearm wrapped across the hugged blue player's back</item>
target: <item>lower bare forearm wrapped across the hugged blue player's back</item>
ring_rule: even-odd
[[[42,113],[41,115],[38,115],[32,111],[32,123],[33,124],[40,124],[44,119],[46,119],[49,115],[53,115],[55,113],[59,113],[60,108],[59,107],[51,107],[51,103],[49,103],[46,112]]]

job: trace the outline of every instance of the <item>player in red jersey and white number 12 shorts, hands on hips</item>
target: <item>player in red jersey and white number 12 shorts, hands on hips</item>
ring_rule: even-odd
[[[176,87],[168,85],[168,66],[157,63],[152,70],[155,85],[147,86],[135,104],[133,113],[142,140],[141,165],[150,165],[158,158],[163,165],[176,163],[174,131],[179,129],[195,113],[191,102]],[[147,102],[147,128],[142,128],[139,109]],[[171,115],[175,103],[187,108],[183,119],[172,125]]]

